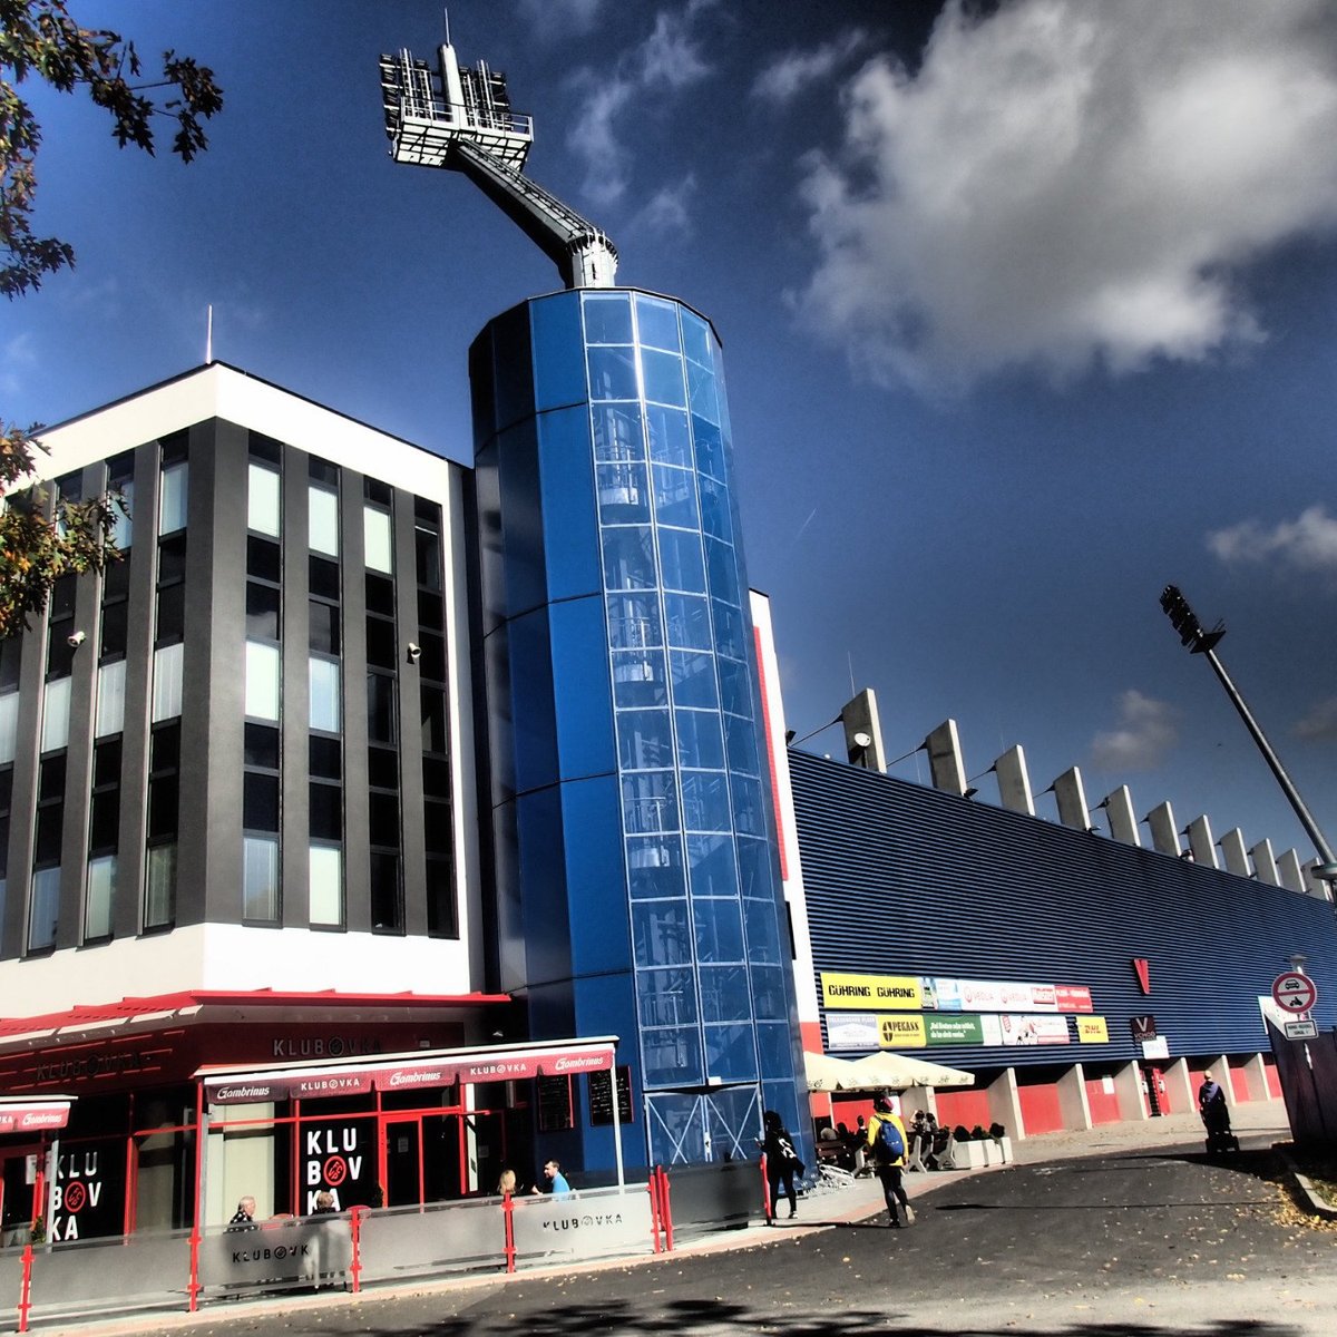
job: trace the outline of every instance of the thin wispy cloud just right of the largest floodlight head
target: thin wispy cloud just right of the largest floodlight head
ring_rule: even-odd
[[[710,72],[694,25],[714,4],[690,0],[681,12],[662,11],[650,36],[623,52],[611,71],[580,74],[586,98],[567,146],[586,162],[584,193],[595,203],[611,205],[627,190],[631,154],[618,136],[618,122],[628,103],[647,92],[677,92]]]

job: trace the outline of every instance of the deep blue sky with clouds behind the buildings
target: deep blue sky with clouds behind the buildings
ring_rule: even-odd
[[[218,357],[468,460],[468,344],[558,279],[463,178],[386,156],[376,57],[431,56],[440,5],[72,8],[195,55],[227,106],[183,167],[33,90],[36,222],[79,267],[0,308],[0,416],[197,365],[213,303]],[[1092,805],[1128,783],[1139,817],[1169,798],[1308,858],[1158,595],[1226,620],[1337,838],[1337,11],[987,8],[456,0],[451,24],[619,279],[721,333],[800,734],[872,686],[889,755],[951,715],[972,775],[1019,742],[1036,792],[1076,763]]]

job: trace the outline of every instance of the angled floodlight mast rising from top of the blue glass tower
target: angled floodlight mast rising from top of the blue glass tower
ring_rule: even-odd
[[[567,287],[611,287],[618,250],[608,235],[524,175],[533,120],[511,110],[505,75],[461,67],[447,40],[439,71],[405,48],[381,56],[381,100],[397,163],[463,172],[548,257]]]

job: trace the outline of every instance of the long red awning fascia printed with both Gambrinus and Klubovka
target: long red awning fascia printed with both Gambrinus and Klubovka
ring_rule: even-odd
[[[365,1063],[326,1062],[299,1068],[271,1064],[262,1068],[201,1068],[210,1104],[251,1104],[269,1100],[305,1100],[325,1095],[365,1095],[377,1091],[416,1091],[428,1087],[475,1086],[523,1078],[607,1072],[616,1040],[540,1042],[492,1050],[437,1050],[382,1055]]]

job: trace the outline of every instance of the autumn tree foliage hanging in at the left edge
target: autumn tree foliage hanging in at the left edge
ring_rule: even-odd
[[[75,262],[68,242],[32,230],[41,127],[21,95],[24,83],[87,92],[110,114],[122,148],[132,144],[152,154],[156,116],[175,122],[171,151],[182,162],[209,146],[202,122],[223,106],[214,72],[167,51],[160,80],[140,83],[140,74],[134,43],[80,28],[66,0],[0,0],[0,294],[13,299],[36,290],[47,274]],[[63,505],[49,516],[40,491],[15,496],[33,473],[36,431],[0,416],[0,636],[21,630],[28,614],[41,610],[56,576],[100,570],[115,554],[107,499]]]

